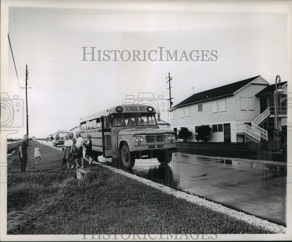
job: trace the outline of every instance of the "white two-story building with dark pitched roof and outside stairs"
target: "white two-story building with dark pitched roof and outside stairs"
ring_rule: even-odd
[[[282,84],[286,87],[286,83]],[[213,142],[245,142],[251,137],[267,140],[268,129],[264,121],[273,114],[261,113],[267,109],[268,103],[272,105],[273,90],[275,85],[271,86],[261,76],[256,76],[193,94],[169,110],[171,127],[177,131],[186,126],[195,134],[198,126],[210,125],[213,130],[209,138]],[[283,105],[285,98],[287,100],[287,96],[281,99]],[[274,123],[269,127],[273,129]],[[195,141],[194,135],[189,140]]]

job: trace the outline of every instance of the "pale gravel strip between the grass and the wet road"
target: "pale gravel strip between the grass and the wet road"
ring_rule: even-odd
[[[206,157],[208,157],[208,156],[206,156]],[[225,207],[225,206],[223,206],[221,204],[208,201],[208,200],[206,200],[204,198],[199,198],[198,196],[195,196],[195,195],[192,195],[192,194],[189,194],[189,193],[185,193],[185,192],[182,192],[182,191],[178,191],[178,190],[175,190],[175,189],[173,189],[171,187],[164,186],[162,184],[158,184],[156,182],[152,182],[152,181],[147,180],[145,178],[139,177],[139,176],[137,176],[135,174],[128,173],[128,172],[126,172],[124,170],[113,168],[113,167],[110,167],[108,165],[103,165],[102,163],[98,163],[98,165],[100,165],[102,167],[106,167],[109,170],[112,170],[112,171],[117,172],[119,174],[125,175],[125,176],[127,176],[129,178],[138,180],[139,182],[142,182],[142,183],[144,183],[144,184],[146,184],[148,186],[156,188],[156,189],[158,189],[160,191],[163,191],[163,192],[165,192],[167,194],[171,194],[171,195],[173,195],[173,196],[175,196],[177,198],[183,198],[183,199],[189,201],[190,203],[194,203],[194,204],[198,204],[198,205],[201,205],[201,206],[205,206],[207,208],[210,208],[213,211],[222,212],[222,213],[224,213],[226,215],[229,215],[230,217],[234,217],[236,219],[243,220],[243,221],[245,221],[245,222],[247,222],[247,223],[249,223],[251,225],[254,225],[254,226],[269,230],[274,234],[286,234],[286,228],[284,226],[268,222],[267,220],[260,219],[258,217],[253,216],[253,215],[245,214],[244,212],[239,212],[239,211],[233,210],[231,208],[227,208],[227,207]]]

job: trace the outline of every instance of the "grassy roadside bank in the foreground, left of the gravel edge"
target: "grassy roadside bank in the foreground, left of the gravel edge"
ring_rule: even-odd
[[[133,192],[128,177],[113,186],[112,171],[99,165],[86,167],[81,182],[76,170],[61,165],[61,151],[44,146],[41,155],[44,163],[34,164],[34,169],[28,164],[28,184],[20,186],[20,168],[8,166],[8,179],[14,179],[7,188],[8,234],[83,234],[82,225],[110,234],[124,228],[123,234],[157,234],[160,226],[163,234],[269,233],[140,182]],[[8,165],[15,162],[17,152],[8,156]],[[34,192],[38,188],[42,191]]]

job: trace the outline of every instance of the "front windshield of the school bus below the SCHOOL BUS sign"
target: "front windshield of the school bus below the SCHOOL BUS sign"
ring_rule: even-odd
[[[157,125],[155,114],[123,113],[112,115],[113,127]]]

